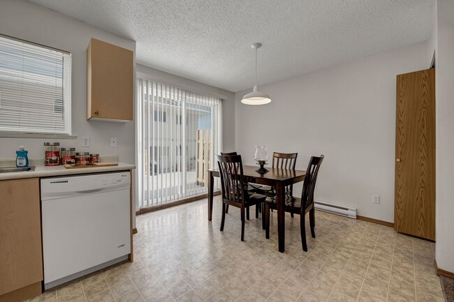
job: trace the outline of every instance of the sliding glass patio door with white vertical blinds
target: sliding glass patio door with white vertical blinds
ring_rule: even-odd
[[[221,144],[221,99],[137,80],[141,208],[207,192]]]

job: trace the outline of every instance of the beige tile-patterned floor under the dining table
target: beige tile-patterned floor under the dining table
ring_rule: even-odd
[[[251,214],[254,210],[251,211]],[[207,221],[206,199],[138,216],[135,261],[49,290],[36,301],[444,301],[434,243],[390,227],[316,212],[316,239],[300,243],[299,217],[286,219],[286,252],[277,251],[251,215],[240,241],[240,212],[219,232],[221,202]]]

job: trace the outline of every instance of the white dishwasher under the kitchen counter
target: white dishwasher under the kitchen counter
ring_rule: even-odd
[[[129,172],[41,179],[45,289],[127,259]]]

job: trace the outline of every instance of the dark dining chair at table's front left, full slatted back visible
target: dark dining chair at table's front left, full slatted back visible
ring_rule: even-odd
[[[222,189],[221,232],[226,221],[226,206],[235,206],[241,211],[241,241],[244,241],[244,212],[249,206],[261,206],[266,196],[244,189],[244,175],[241,156],[216,156],[219,165]],[[247,183],[246,183],[247,184]],[[258,213],[256,211],[256,218]]]

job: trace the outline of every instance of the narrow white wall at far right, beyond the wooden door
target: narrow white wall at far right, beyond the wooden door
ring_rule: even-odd
[[[436,259],[440,269],[454,273],[454,1],[437,6]]]

